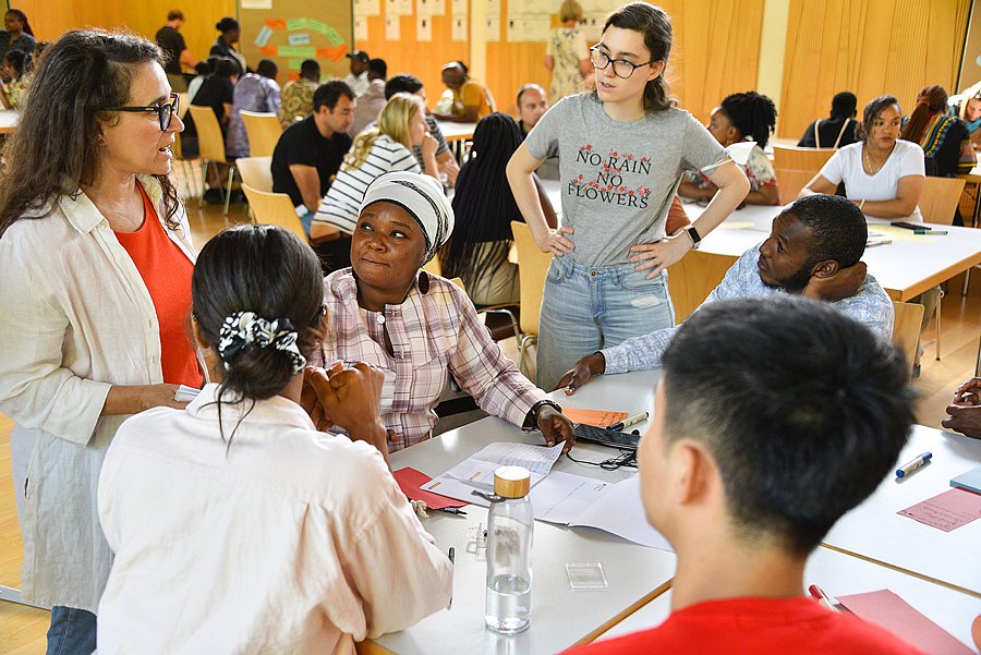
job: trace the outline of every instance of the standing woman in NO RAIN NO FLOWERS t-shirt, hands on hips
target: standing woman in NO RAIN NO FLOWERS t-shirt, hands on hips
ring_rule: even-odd
[[[663,10],[646,2],[621,7],[590,51],[596,90],[559,101],[508,163],[535,242],[555,255],[540,316],[541,388],[554,388],[584,354],[674,325],[665,268],[697,247],[749,192],[718,142],[675,108],[663,76],[670,48],[671,23]],[[556,155],[562,227],[550,231],[532,172]],[[686,170],[704,172],[718,193],[694,223],[666,235]]]

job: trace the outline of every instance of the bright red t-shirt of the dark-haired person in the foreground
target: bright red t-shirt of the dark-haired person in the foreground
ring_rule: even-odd
[[[595,642],[569,653],[922,655],[922,651],[879,626],[828,611],[807,596],[699,603],[673,612],[657,628]]]

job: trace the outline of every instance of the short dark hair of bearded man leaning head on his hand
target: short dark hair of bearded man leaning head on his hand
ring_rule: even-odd
[[[819,193],[794,201],[784,213],[811,230],[809,266],[831,259],[848,268],[862,258],[869,226],[862,210],[851,201]]]

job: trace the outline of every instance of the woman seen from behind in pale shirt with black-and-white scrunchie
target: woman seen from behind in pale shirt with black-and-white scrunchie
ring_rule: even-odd
[[[350,438],[300,405],[329,320],[310,246],[272,226],[226,230],[192,294],[218,384],[129,419],[109,448],[99,652],[353,653],[446,607],[452,566],[383,457],[382,373],[306,374]]]

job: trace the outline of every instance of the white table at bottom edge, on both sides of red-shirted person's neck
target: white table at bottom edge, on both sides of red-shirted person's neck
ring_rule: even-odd
[[[887,589],[958,640],[973,647],[971,621],[981,614],[981,599],[825,547],[819,547],[808,558],[803,583],[804,586],[816,584],[832,596]],[[598,639],[611,639],[655,628],[667,620],[670,603],[671,592],[667,591],[604,632]]]

